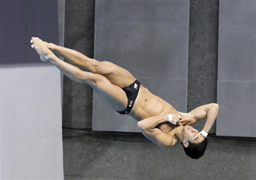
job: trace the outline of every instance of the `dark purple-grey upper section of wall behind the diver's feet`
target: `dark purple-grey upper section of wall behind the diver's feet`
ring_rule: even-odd
[[[1,0],[0,3],[0,63],[45,63],[30,47],[30,40],[34,36],[59,44],[57,1]]]

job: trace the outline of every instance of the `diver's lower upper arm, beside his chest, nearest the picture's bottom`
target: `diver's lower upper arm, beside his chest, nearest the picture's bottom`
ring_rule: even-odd
[[[146,136],[149,140],[157,144],[160,148],[168,148],[172,146],[173,137],[171,137],[167,133],[163,133],[160,129],[142,129],[141,132],[144,136]]]

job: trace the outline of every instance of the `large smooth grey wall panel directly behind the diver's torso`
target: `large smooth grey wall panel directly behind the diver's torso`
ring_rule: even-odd
[[[95,2],[94,58],[129,70],[153,94],[187,111],[189,1]],[[108,112],[108,113],[105,113]],[[140,132],[93,93],[92,129]]]

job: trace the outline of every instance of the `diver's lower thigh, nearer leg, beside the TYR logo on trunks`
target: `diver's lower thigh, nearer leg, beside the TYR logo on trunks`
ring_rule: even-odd
[[[86,83],[117,111],[126,109],[128,100],[124,90],[117,85],[112,84],[106,77],[91,73],[90,78],[86,80]]]

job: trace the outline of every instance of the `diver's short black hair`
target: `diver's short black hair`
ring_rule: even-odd
[[[182,144],[182,142],[181,142],[181,144]],[[200,157],[202,157],[204,155],[207,144],[208,144],[208,139],[204,138],[204,140],[198,144],[189,142],[187,148],[185,148],[183,146],[183,144],[182,144],[182,146],[184,148],[186,155],[188,155],[192,159],[199,159]]]

